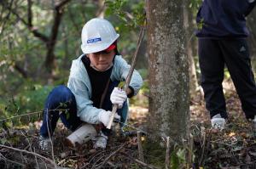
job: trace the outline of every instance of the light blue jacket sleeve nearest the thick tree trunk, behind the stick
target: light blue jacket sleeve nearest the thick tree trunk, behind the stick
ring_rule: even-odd
[[[126,77],[128,76],[131,65],[128,65],[125,59],[122,59],[121,56],[116,56],[114,64],[116,65],[114,66],[114,71],[117,73],[115,74],[115,78],[119,81],[125,81]],[[133,88],[134,95],[136,95],[140,88],[143,86],[143,78],[142,76],[140,76],[137,70],[133,71],[129,86]]]

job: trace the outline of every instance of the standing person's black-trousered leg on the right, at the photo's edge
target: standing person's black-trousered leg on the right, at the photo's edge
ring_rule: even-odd
[[[247,119],[256,115],[256,86],[245,39],[223,40],[221,49]]]

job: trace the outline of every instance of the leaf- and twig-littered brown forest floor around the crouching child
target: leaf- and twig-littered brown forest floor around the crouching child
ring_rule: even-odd
[[[198,94],[190,101],[192,152],[191,168],[255,169],[256,139],[252,124],[245,119],[241,104],[231,82],[224,82],[229,121],[222,132],[211,129],[203,98]],[[129,124],[143,128],[148,109],[132,107]],[[0,168],[163,168],[165,155],[149,155],[144,152],[145,163],[138,160],[137,136],[121,137],[113,134],[107,149],[93,149],[91,141],[67,147],[63,140],[70,134],[58,124],[53,140],[53,151],[45,152],[38,147],[40,121],[23,128],[8,128],[0,132]],[[130,129],[132,128],[130,127]],[[144,136],[143,138],[146,138]],[[54,157],[54,158],[53,158]],[[52,160],[54,159],[54,160]],[[183,161],[184,162],[184,161]],[[147,164],[148,163],[148,164]],[[149,165],[151,164],[151,165]],[[182,168],[182,166],[172,168]]]

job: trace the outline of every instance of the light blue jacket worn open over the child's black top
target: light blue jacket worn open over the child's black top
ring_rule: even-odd
[[[81,121],[85,121],[91,124],[98,124],[99,112],[102,109],[94,107],[91,99],[91,85],[87,70],[81,60],[83,55],[78,59],[74,59],[70,75],[67,82],[67,87],[73,92],[77,102],[77,115]],[[128,65],[125,59],[121,55],[116,55],[113,62],[113,70],[110,76],[112,81],[125,81],[126,76],[129,73],[131,65]],[[143,79],[137,72],[133,71],[131,76],[131,82],[129,84],[134,89],[134,94],[137,94],[139,89],[143,85]]]

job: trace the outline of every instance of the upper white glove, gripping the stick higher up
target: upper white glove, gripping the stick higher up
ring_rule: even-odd
[[[120,89],[119,87],[113,88],[113,92],[110,95],[112,104],[118,104],[118,108],[121,109],[126,99],[127,95],[123,89]]]

